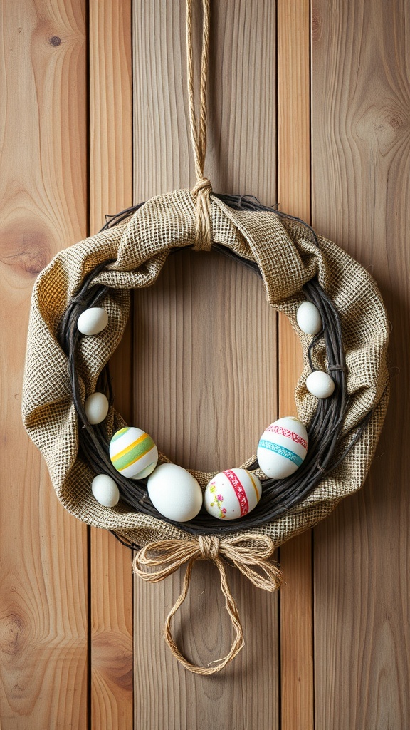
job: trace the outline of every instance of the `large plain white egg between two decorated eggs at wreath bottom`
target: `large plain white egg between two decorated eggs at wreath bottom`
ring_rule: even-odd
[[[163,517],[187,522],[202,507],[202,491],[195,477],[177,464],[160,464],[147,483],[150,500]]]

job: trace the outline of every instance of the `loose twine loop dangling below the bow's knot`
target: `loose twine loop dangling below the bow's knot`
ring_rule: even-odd
[[[174,637],[171,634],[171,618],[174,616],[174,614],[179,609],[179,606],[185,601],[187,597],[187,592],[190,586],[190,577],[193,569],[193,564],[198,560],[198,558],[193,558],[190,560],[190,562],[187,564],[187,570],[185,572],[184,577],[184,583],[182,586],[182,591],[180,595],[177,598],[177,601],[174,603],[174,606],[171,608],[171,611],[169,612],[169,615],[166,617],[166,623],[163,629],[163,636],[166,640],[166,643],[168,644],[169,648],[171,649],[171,652],[173,653],[174,657],[182,664],[182,666],[185,666],[185,669],[189,669],[190,672],[193,672],[196,675],[203,675],[204,677],[209,675],[214,675],[215,672],[220,672],[220,669],[223,669],[226,664],[228,664],[229,661],[231,661],[236,655],[241,651],[241,649],[244,647],[244,633],[242,631],[241,621],[239,618],[238,609],[236,607],[236,602],[233,599],[231,589],[229,588],[228,579],[226,577],[225,567],[223,565],[223,561],[220,560],[220,558],[212,558],[214,564],[217,566],[217,569],[220,572],[220,585],[223,591],[223,594],[225,596],[225,608],[228,611],[229,617],[231,618],[231,623],[233,626],[233,629],[235,630],[235,637],[233,639],[231,649],[229,650],[228,654],[224,656],[222,659],[217,659],[217,664],[215,666],[197,666],[196,664],[192,664],[179,650],[177,647],[177,644],[174,641]],[[212,662],[214,664],[214,662]]]

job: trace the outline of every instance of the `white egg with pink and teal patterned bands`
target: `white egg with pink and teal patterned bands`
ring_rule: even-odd
[[[303,463],[308,437],[298,418],[287,416],[271,423],[263,431],[258,444],[260,469],[271,479],[285,479]]]

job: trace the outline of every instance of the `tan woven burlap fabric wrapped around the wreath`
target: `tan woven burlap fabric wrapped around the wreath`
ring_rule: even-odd
[[[154,284],[169,250],[193,244],[195,215],[189,191],[151,199],[125,222],[58,253],[36,280],[31,301],[23,388],[23,420],[28,434],[45,457],[63,506],[80,520],[116,531],[139,546],[153,539],[190,539],[190,535],[183,526],[131,511],[121,501],[117,507],[108,508],[93,499],[90,484],[95,475],[77,456],[77,415],[67,359],[57,341],[58,323],[85,275],[101,261],[115,259],[96,277],[96,283],[110,288],[101,304],[109,312],[109,325],[98,336],[81,340],[77,367],[85,398],[95,390],[98,374],[123,335],[129,290]],[[214,197],[211,223],[214,242],[258,264],[268,303],[287,314],[301,337],[304,367],[295,389],[301,420],[309,423],[317,400],[305,385],[310,372],[310,338],[297,328],[295,315],[305,299],[303,283],[316,275],[341,317],[349,393],[344,445],[352,439],[352,429],[372,411],[362,436],[344,461],[307,499],[282,518],[247,529],[248,533],[266,534],[280,545],[328,515],[343,496],[356,491],[365,480],[388,400],[386,313],[370,274],[332,242],[319,237],[317,247],[298,223],[272,212],[232,210]],[[314,365],[326,369],[324,345],[314,348]],[[123,425],[123,419],[110,407],[109,433]],[[160,459],[167,461],[163,455]],[[247,464],[254,459],[252,456]],[[202,487],[212,476],[192,473]]]

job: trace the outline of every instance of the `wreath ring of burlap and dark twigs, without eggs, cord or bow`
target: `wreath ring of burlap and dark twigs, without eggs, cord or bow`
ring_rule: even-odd
[[[214,250],[261,276],[268,306],[285,312],[297,331],[303,301],[311,299],[320,310],[322,334],[312,339],[299,331],[303,371],[295,402],[309,431],[309,451],[294,477],[263,481],[263,498],[249,516],[231,523],[207,512],[191,523],[162,518],[144,481],[122,480],[109,461],[109,439],[126,424],[115,410],[106,366],[125,329],[131,291],[155,285],[173,250],[196,245],[195,210],[190,191],[166,193],[55,255],[39,275],[31,301],[23,420],[63,506],[127,543],[142,547],[152,539],[255,531],[280,545],[328,515],[365,480],[388,400],[387,316],[371,275],[344,250],[251,197],[212,194]],[[82,337],[77,318],[98,304],[109,314],[107,328]],[[335,380],[330,399],[318,401],[306,390],[312,368]],[[107,420],[91,426],[84,403],[95,391],[107,393],[112,405]],[[241,466],[257,469],[258,464]],[[93,497],[91,483],[101,473],[119,485],[122,499],[116,507],[103,507]],[[193,476],[205,488],[214,473]]]

